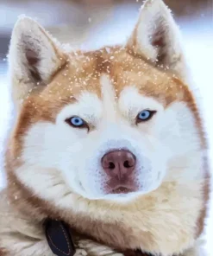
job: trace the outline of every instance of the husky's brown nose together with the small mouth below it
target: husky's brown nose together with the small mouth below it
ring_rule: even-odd
[[[135,190],[134,171],[137,159],[129,150],[107,152],[101,160],[103,171],[109,177],[110,193],[128,193]]]

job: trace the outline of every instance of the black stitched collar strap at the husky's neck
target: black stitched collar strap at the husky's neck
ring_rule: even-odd
[[[45,234],[48,245],[57,256],[73,256],[75,246],[69,227],[63,221],[45,221]]]

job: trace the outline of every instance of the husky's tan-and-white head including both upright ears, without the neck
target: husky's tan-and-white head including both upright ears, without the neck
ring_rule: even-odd
[[[55,208],[122,207],[200,175],[200,119],[185,86],[179,30],[160,0],[145,3],[126,45],[91,52],[67,53],[23,17],[9,71],[13,176]]]

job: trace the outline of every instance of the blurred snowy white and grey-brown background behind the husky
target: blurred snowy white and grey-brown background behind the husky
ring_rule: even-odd
[[[193,79],[203,99],[210,148],[213,145],[212,1],[165,0],[179,23]],[[22,14],[34,17],[60,42],[70,43],[72,48],[98,48],[126,40],[141,4],[141,0],[0,0],[0,188],[5,184],[1,171],[3,141],[11,118],[6,55],[17,17]],[[212,150],[210,158],[213,160]],[[208,226],[208,236],[212,237],[213,218]],[[207,246],[212,255],[213,245],[209,242]]]

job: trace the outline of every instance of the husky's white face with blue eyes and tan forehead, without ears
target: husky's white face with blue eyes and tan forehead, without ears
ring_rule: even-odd
[[[60,85],[53,81],[41,93],[42,106],[34,98],[27,100],[20,124],[26,115],[38,119],[28,126],[23,138],[22,161],[42,170],[33,182],[40,184],[46,171],[50,174],[55,170],[56,185],[59,176],[78,195],[121,201],[157,189],[168,170],[179,171],[178,159],[186,165],[185,154],[198,148],[197,140],[191,139],[196,130],[189,106],[166,99],[166,90],[178,92],[181,84],[157,74],[160,89],[154,89],[154,77],[147,74],[150,67],[143,68],[143,61],[136,63],[124,50],[118,51],[135,63],[138,72],[132,67],[122,71],[122,62],[111,62],[113,76],[93,77],[97,79],[97,91],[91,90],[91,73],[83,81],[86,85],[75,92],[82,75],[62,70],[56,80],[67,74],[67,79],[61,81],[66,87],[71,85],[71,77],[70,92],[62,95]],[[108,60],[111,54],[106,56]],[[78,68],[85,72],[80,64]],[[56,92],[53,98],[52,90]],[[184,99],[185,92],[176,97]],[[54,108],[57,101],[62,104],[59,110]],[[44,112],[53,119],[40,118]]]

